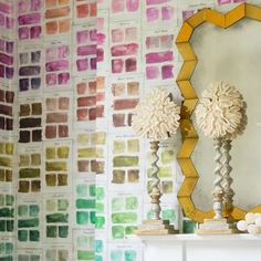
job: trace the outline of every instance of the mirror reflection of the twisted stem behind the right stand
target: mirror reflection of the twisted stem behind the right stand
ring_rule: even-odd
[[[222,140],[222,155],[223,155],[223,211],[225,211],[225,218],[228,218],[228,220],[232,221],[231,218],[231,211],[233,209],[233,196],[234,191],[231,188],[231,184],[233,182],[233,179],[230,176],[230,173],[232,170],[232,167],[230,166],[230,150],[231,150],[231,140],[226,139]]]

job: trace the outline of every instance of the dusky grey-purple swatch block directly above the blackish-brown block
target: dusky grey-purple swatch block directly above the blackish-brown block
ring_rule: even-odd
[[[19,51],[19,91],[40,91],[42,85],[42,48]]]

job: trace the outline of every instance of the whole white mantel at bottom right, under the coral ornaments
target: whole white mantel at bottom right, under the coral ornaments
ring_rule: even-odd
[[[144,243],[144,261],[261,261],[261,236],[133,236]]]

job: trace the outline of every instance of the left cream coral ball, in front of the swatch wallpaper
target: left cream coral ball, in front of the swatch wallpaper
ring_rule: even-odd
[[[180,107],[173,101],[171,94],[155,88],[136,106],[132,127],[138,136],[163,140],[177,132],[179,114]]]

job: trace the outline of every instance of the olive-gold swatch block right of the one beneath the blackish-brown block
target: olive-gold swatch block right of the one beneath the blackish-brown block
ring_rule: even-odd
[[[69,159],[71,143],[45,144],[45,186],[50,189],[67,188],[71,185],[72,174]]]

